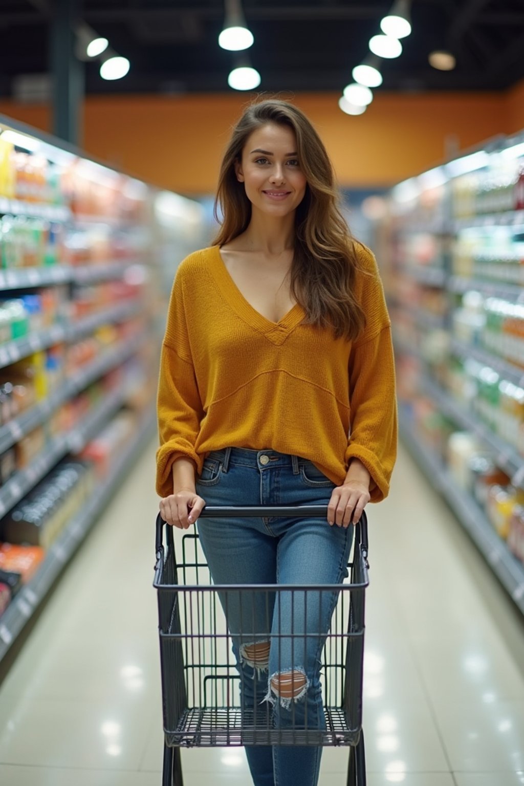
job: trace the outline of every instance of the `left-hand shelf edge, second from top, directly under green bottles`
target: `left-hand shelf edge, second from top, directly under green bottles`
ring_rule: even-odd
[[[0,270],[0,289],[29,289],[60,284],[91,284],[93,281],[110,281],[121,278],[131,265],[130,262],[108,262],[104,265],[55,265],[49,267],[26,267]]]

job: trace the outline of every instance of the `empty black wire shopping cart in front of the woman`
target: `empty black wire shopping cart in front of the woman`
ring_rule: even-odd
[[[321,516],[327,505],[206,506],[200,516]],[[240,745],[348,746],[347,786],[365,786],[362,731],[365,588],[368,586],[368,523],[365,513],[355,527],[349,582],[342,585],[214,585],[200,548],[198,534],[182,538],[182,560],[174,553],[172,527],[156,520],[160,665],[163,697],[163,786],[182,786],[180,748]],[[240,674],[231,652],[226,615],[219,594],[252,602],[266,593],[273,608],[277,593],[339,593],[321,656],[322,697],[326,729],[274,728],[266,709],[242,705]],[[292,595],[295,597],[295,594]],[[297,595],[298,597],[298,595]],[[248,618],[248,614],[247,614]],[[286,634],[288,635],[288,634]],[[292,634],[291,634],[292,635]],[[309,633],[307,634],[309,635]],[[318,636],[317,633],[311,635]],[[300,638],[304,639],[304,634]],[[299,642],[296,644],[299,647]],[[267,674],[266,674],[267,681]],[[256,704],[256,703],[255,703]]]

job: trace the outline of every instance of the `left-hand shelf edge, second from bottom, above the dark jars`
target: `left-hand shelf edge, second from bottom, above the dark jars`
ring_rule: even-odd
[[[31,461],[28,467],[16,472],[0,489],[0,516],[5,516],[6,512],[24,498],[27,492],[60,461],[60,458],[71,450],[75,452],[82,450],[86,442],[100,430],[101,424],[122,406],[128,389],[129,380],[126,379],[123,384],[105,396],[101,404],[93,408],[82,424],[73,428],[71,432],[60,434],[52,439],[42,454]]]

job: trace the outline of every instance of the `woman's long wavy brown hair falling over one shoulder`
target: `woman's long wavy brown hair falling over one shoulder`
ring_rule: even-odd
[[[365,313],[354,294],[359,268],[354,241],[339,208],[332,163],[310,120],[288,101],[258,101],[233,128],[222,160],[214,215],[222,226],[213,244],[222,246],[243,233],[251,220],[251,202],[238,182],[235,161],[242,159],[247,138],[257,128],[277,123],[295,131],[299,163],[306,175],[306,194],[295,213],[295,250],[291,295],[306,311],[307,324],[332,328],[335,337],[354,340],[365,328]]]

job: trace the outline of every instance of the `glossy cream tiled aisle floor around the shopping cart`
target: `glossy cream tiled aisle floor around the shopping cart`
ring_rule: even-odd
[[[153,461],[152,445],[0,686],[3,786],[159,786]],[[524,783],[524,626],[404,452],[369,513],[369,786]],[[321,786],[346,761],[324,751]],[[185,786],[251,783],[241,749],[183,762]]]

